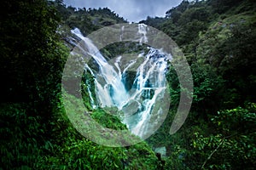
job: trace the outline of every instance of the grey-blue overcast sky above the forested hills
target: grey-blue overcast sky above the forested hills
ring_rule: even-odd
[[[129,22],[145,20],[147,16],[165,16],[166,11],[182,0],[64,0],[75,8],[108,7]]]

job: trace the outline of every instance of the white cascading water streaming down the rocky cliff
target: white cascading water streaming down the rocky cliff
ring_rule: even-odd
[[[121,32],[125,30],[123,26]],[[118,56],[113,59],[113,64],[108,62],[93,42],[84,37],[79,29],[72,31],[82,39],[83,46],[80,50],[89,54],[98,66],[98,71],[85,64],[84,70],[90,71],[94,77],[95,94],[97,102],[90,94],[91,104],[98,104],[97,107],[116,106],[124,111],[124,118],[121,120],[134,133],[143,138],[152,126],[152,117],[160,116],[162,108],[156,102],[164,98],[166,90],[166,69],[171,55],[161,52],[159,49],[148,48],[148,54],[139,54],[126,61],[125,56]],[[137,34],[140,35],[138,42],[148,41],[147,26],[138,25]],[[120,35],[122,40],[122,35]],[[140,63],[137,66],[136,64]],[[132,68],[132,69],[131,69]],[[133,71],[135,78],[127,80],[127,71]],[[131,88],[125,84],[132,82]],[[88,88],[90,91],[90,88]],[[155,114],[153,114],[155,112]]]

